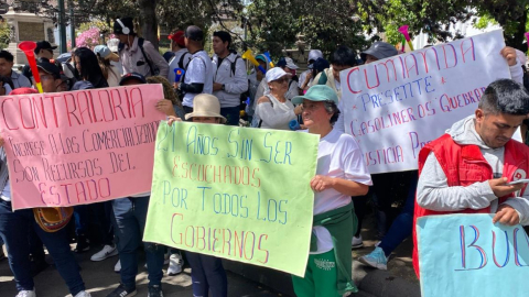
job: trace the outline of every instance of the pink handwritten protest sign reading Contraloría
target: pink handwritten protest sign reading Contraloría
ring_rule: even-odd
[[[151,189],[161,85],[0,97],[13,209]]]

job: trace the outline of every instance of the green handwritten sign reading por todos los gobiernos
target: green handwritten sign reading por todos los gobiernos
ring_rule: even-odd
[[[319,136],[162,122],[143,240],[303,276]]]

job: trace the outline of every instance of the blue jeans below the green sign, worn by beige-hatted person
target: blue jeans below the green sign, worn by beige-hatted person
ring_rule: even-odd
[[[215,297],[228,296],[228,278],[220,258],[187,251],[185,256],[191,265],[194,297],[207,297],[209,289]]]

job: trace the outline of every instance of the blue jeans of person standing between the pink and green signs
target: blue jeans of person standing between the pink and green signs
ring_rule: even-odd
[[[138,248],[142,243],[145,229],[149,196],[139,198],[120,198],[112,200],[116,243],[121,261],[121,283],[127,289],[136,288],[138,274]],[[149,285],[162,285],[163,245],[144,242]]]

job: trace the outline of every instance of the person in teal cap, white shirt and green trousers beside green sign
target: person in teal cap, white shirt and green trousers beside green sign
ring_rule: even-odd
[[[303,278],[292,276],[299,297],[337,297],[358,289],[352,280],[350,241],[356,231],[352,196],[366,195],[371,177],[352,135],[333,124],[338,118],[338,97],[327,86],[317,85],[293,103],[302,103],[306,132],[321,136],[314,190],[314,220],[311,253]]]

